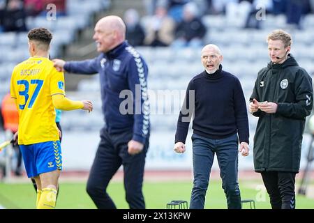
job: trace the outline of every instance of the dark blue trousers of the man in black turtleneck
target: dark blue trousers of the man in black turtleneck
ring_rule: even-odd
[[[193,134],[193,190],[190,198],[191,209],[203,209],[209,185],[209,176],[217,154],[220,177],[227,198],[227,207],[241,208],[238,183],[238,137],[237,134],[225,139],[208,139]]]

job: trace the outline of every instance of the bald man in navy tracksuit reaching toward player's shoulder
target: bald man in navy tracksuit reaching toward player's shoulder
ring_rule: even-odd
[[[86,61],[54,60],[59,70],[100,75],[105,127],[87,182],[87,193],[97,208],[116,208],[106,192],[121,164],[126,201],[130,208],[145,208],[142,194],[144,164],[149,146],[147,64],[125,40],[120,17],[107,16],[95,26],[94,40],[101,54]]]

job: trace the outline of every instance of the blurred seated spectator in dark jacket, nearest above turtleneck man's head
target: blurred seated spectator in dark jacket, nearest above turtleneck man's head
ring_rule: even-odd
[[[174,47],[201,47],[207,28],[198,17],[198,9],[195,3],[190,2],[184,6],[183,20],[177,25]]]

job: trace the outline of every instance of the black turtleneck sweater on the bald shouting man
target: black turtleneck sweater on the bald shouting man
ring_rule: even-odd
[[[195,92],[195,103],[188,94]],[[190,105],[190,103],[192,103]],[[195,105],[193,107],[193,104]],[[229,72],[219,69],[214,74],[206,71],[193,77],[188,84],[184,105],[179,114],[175,142],[185,144],[193,111],[195,134],[209,139],[224,139],[238,132],[239,141],[248,143],[248,114],[246,100],[239,79]]]

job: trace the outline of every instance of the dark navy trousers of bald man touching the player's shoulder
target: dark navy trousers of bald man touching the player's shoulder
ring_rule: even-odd
[[[110,134],[105,130],[100,132],[100,144],[87,181],[87,193],[97,208],[114,209],[116,206],[107,194],[107,185],[121,164],[124,166],[124,189],[126,201],[131,209],[144,209],[142,194],[144,164],[149,137],[144,149],[137,155],[128,153],[128,141],[133,137],[133,131]]]

